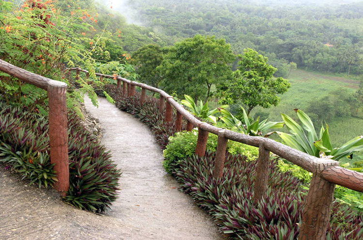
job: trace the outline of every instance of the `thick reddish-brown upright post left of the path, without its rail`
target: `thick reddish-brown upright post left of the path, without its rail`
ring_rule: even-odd
[[[50,162],[55,163],[58,182],[55,189],[65,196],[69,189],[68,129],[67,129],[67,85],[50,81],[49,98],[49,145]]]

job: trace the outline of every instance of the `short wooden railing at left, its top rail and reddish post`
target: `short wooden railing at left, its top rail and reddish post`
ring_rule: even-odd
[[[0,59],[0,71],[47,91],[49,100],[50,161],[58,178],[55,189],[65,196],[69,189],[67,84],[51,80]]]

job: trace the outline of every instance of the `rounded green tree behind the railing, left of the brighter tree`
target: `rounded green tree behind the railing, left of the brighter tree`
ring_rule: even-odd
[[[157,70],[163,75],[166,92],[208,99],[212,85],[231,75],[234,59],[224,39],[196,35],[168,48]]]

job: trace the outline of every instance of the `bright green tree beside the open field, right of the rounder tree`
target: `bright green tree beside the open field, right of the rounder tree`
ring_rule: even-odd
[[[234,72],[234,77],[218,86],[221,101],[228,104],[242,102],[247,106],[247,115],[256,106],[276,106],[280,101],[277,95],[285,93],[290,83],[283,78],[274,79],[277,69],[251,48],[245,49],[239,58],[239,70]]]

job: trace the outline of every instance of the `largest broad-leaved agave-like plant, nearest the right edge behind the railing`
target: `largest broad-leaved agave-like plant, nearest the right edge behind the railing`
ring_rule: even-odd
[[[363,150],[363,136],[355,137],[342,146],[333,148],[330,141],[329,126],[327,124],[325,128],[321,126],[318,137],[309,116],[299,109],[294,110],[301,121],[302,126],[286,114],[281,113],[290,134],[277,132],[288,146],[318,158],[329,156],[329,158],[333,160],[340,160],[351,155],[355,151]]]

